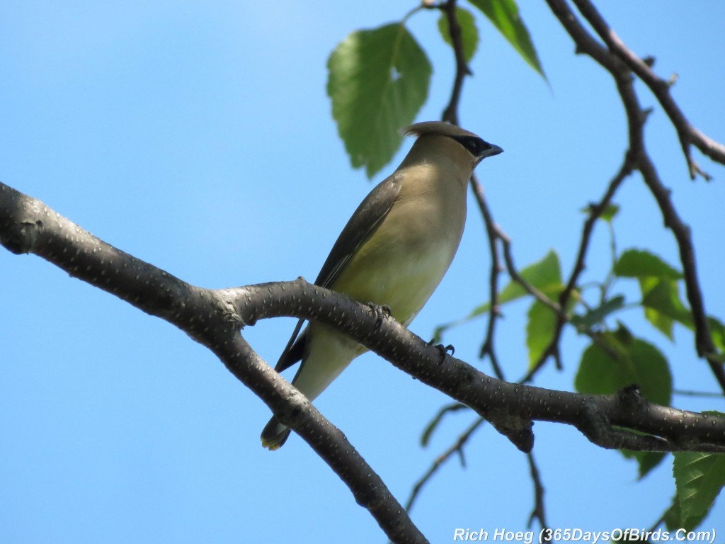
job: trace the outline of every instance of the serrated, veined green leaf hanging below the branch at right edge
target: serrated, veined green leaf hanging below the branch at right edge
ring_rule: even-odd
[[[680,524],[685,529],[694,529],[725,486],[725,454],[678,452],[674,456],[672,474]]]

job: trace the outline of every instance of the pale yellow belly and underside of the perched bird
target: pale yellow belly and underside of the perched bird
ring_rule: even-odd
[[[408,326],[438,287],[463,234],[465,184],[459,189],[443,199],[425,193],[401,197],[330,288],[363,304],[386,305]],[[310,323],[307,333],[294,384],[313,399],[365,348],[320,323]]]

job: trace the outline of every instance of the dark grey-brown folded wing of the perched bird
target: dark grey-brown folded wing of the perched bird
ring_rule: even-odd
[[[402,178],[402,173],[394,173],[385,178],[360,203],[345,228],[342,229],[340,236],[337,237],[330,255],[315,280],[315,285],[330,287],[334,284],[344,265],[352,255],[355,255],[357,248],[377,230],[385,216],[388,215],[400,192]],[[302,329],[304,321],[304,319],[300,319],[295,326],[289,342],[277,361],[276,371],[286,370],[302,359],[307,342],[307,330],[302,334],[299,334],[299,331]]]

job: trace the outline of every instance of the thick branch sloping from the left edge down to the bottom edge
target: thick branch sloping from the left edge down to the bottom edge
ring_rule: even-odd
[[[0,184],[0,244],[13,253],[43,257],[209,347],[328,463],[392,542],[428,542],[344,434],[241,337],[239,329],[254,316],[242,319],[229,292],[191,286],[102,242],[39,200],[4,184]],[[260,305],[265,305],[263,296]]]

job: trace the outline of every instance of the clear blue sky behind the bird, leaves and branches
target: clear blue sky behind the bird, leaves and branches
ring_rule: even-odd
[[[573,265],[588,202],[599,199],[626,147],[609,76],[573,54],[543,2],[521,2],[550,86],[479,18],[460,118],[505,153],[479,167],[494,217],[518,265],[555,248]],[[637,54],[679,75],[673,93],[697,128],[725,141],[720,1],[602,4]],[[413,4],[368,2],[6,1],[0,5],[0,181],[37,197],[101,239],[203,287],[314,279],[339,230],[370,190],[352,170],[325,93],[326,59],[357,28],[398,20]],[[452,57],[437,15],[410,20],[434,64],[418,120],[437,119]],[[674,130],[637,84],[647,147],[692,227],[710,313],[721,287],[725,169],[699,152],[715,180],[689,181]],[[385,172],[391,171],[410,142]],[[385,173],[376,176],[380,181]],[[617,244],[671,263],[676,246],[634,176],[619,191]],[[486,299],[489,257],[481,219],[468,224],[449,274],[411,329]],[[584,279],[602,279],[608,234],[597,228]],[[33,256],[0,252],[0,541],[4,543],[383,542],[374,520],[298,437],[262,450],[263,403],[215,358],[167,323],[71,279]],[[633,286],[619,289],[636,300]],[[506,310],[497,340],[510,379],[526,368],[525,305]],[[623,317],[670,358],[681,390],[714,391],[692,350]],[[292,320],[245,331],[273,362]],[[476,354],[482,321],[446,337]],[[639,327],[639,329],[637,329]],[[582,339],[568,332],[563,372],[542,387],[573,389]],[[447,403],[374,355],[356,361],[315,404],[347,434],[392,493],[413,482],[472,421],[451,416],[428,449],[423,426]],[[674,405],[725,411],[722,400],[676,395]],[[550,524],[648,527],[668,505],[668,465],[637,483],[636,467],[569,427],[537,423],[535,453]],[[532,503],[526,459],[484,426],[423,492],[413,520],[432,542],[456,528],[521,530]],[[703,528],[725,531],[721,498]]]

